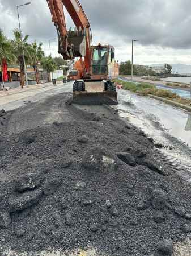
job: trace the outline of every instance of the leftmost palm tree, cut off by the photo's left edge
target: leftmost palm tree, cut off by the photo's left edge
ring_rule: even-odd
[[[12,51],[12,44],[10,40],[6,38],[3,32],[0,30],[0,68],[2,74],[2,82],[3,81],[3,61],[11,62],[15,58]]]

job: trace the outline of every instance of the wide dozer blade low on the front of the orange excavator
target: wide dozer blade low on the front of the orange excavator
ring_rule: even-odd
[[[81,82],[82,83],[82,82]],[[80,85],[80,89],[83,87]],[[77,85],[77,86],[78,86]],[[73,91],[73,103],[79,105],[117,105],[117,92],[105,90],[104,82],[86,82],[84,91]]]

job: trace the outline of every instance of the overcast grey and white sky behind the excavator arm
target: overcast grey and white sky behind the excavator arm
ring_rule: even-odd
[[[91,24],[94,44],[112,44],[116,60],[131,59],[131,40],[135,64],[191,64],[190,0],[79,0]],[[8,38],[18,27],[16,5],[24,0],[0,0],[0,28]],[[57,38],[46,0],[31,0],[19,8],[23,34],[29,41],[43,43],[49,55],[49,39]],[[65,11],[67,27],[74,24]],[[58,40],[51,41],[58,56]]]

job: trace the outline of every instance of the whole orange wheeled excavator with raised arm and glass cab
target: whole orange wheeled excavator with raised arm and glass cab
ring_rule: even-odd
[[[58,34],[58,53],[64,60],[74,60],[78,79],[73,84],[73,100],[98,97],[117,101],[118,63],[111,45],[92,46],[90,22],[78,0],[46,0]],[[67,31],[63,6],[73,19],[74,30]],[[86,100],[85,100],[86,101]]]

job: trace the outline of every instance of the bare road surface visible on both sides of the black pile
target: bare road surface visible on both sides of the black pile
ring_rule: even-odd
[[[65,121],[67,118],[70,119],[70,113],[67,112],[67,108],[63,110],[63,105],[61,104],[65,104],[67,97],[71,96],[71,89],[72,82],[54,87],[49,85],[42,86],[41,88],[36,88],[36,90],[28,89],[1,97],[0,109],[2,107],[5,110],[18,109],[12,112],[9,120],[9,129],[5,132],[7,134],[17,133],[36,126],[46,125],[46,123],[62,122],[63,119]],[[131,102],[128,100],[129,96],[132,97]],[[191,145],[191,128],[188,112],[151,98],[139,97],[126,90],[118,91],[118,101],[119,105],[113,108],[118,109],[122,118],[128,118],[131,123],[137,125],[150,137],[154,138],[155,142],[164,145],[162,149],[164,160],[168,158],[169,163],[172,163],[175,168],[180,167],[180,174],[182,174],[182,170],[184,171],[182,165],[191,170],[189,148]],[[60,111],[61,109],[62,111]],[[100,106],[99,109],[101,109]],[[177,162],[180,163],[179,166],[177,166]],[[190,179],[188,173],[186,175],[186,180]],[[33,255],[37,254],[34,253]],[[38,255],[56,256],[60,255],[60,251],[47,254],[44,251]],[[70,255],[76,254],[71,253]],[[79,251],[79,255],[95,255],[95,251]]]

